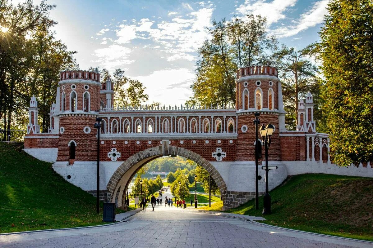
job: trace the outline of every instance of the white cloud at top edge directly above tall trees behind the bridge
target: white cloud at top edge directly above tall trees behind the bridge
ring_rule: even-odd
[[[293,7],[297,0],[245,0],[245,3],[238,6],[236,11],[239,15],[246,16],[250,13],[261,15],[267,18],[267,24],[276,23],[286,16],[283,14],[290,7]]]

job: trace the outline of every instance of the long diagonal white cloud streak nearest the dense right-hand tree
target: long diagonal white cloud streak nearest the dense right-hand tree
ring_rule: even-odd
[[[317,1],[312,6],[311,10],[303,13],[300,16],[299,20],[295,22],[298,23],[297,25],[280,27],[272,32],[279,38],[289,37],[322,23],[324,15],[327,14],[326,7],[328,2],[329,0]]]

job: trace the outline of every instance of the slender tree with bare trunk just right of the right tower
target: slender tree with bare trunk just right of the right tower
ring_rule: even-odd
[[[316,65],[305,59],[309,52],[309,48],[296,51],[295,48],[283,46],[272,55],[282,82],[282,95],[286,111],[285,124],[289,130],[295,130],[298,124],[296,110],[298,110],[299,99],[305,97],[311,85],[318,82]]]

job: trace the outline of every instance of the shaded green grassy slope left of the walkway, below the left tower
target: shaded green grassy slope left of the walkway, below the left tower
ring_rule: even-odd
[[[95,197],[65,181],[50,163],[3,142],[0,192],[0,233],[103,224]]]

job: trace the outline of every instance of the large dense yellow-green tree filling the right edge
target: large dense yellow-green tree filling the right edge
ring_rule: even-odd
[[[338,165],[373,161],[373,4],[332,0],[320,32],[322,90]]]

